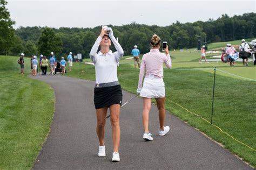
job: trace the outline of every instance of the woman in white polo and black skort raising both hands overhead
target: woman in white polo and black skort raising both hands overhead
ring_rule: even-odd
[[[111,41],[116,52],[110,50]],[[100,51],[97,54],[98,47]],[[103,27],[92,46],[90,58],[95,64],[96,85],[94,103],[97,115],[97,135],[99,138],[98,157],[105,157],[104,126],[106,123],[107,108],[110,108],[113,157],[112,161],[120,161],[118,148],[120,142],[119,114],[122,105],[122,89],[117,79],[117,63],[124,55],[110,27]]]

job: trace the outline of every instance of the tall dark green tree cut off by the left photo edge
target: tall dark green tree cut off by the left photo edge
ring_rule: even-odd
[[[14,45],[15,30],[12,25],[15,24],[10,18],[10,12],[6,9],[7,2],[0,0],[0,54],[7,54]]]

